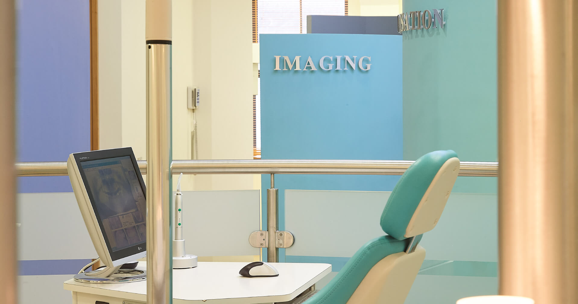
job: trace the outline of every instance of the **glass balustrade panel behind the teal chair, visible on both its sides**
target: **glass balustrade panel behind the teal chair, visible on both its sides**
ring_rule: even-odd
[[[390,193],[286,190],[285,225],[296,241],[285,261],[332,264],[332,274],[316,285],[323,288],[362,244],[384,235],[379,221]],[[420,242],[426,257],[405,303],[497,294],[497,243],[497,195],[452,193]]]

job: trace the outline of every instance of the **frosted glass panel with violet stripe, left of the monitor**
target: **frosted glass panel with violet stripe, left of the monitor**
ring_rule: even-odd
[[[18,302],[71,303],[62,282],[98,255],[72,192],[17,195]]]

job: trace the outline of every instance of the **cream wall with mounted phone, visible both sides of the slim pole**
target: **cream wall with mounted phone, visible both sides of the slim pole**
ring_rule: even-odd
[[[173,159],[191,158],[188,86],[201,89],[199,159],[252,159],[251,2],[172,3]],[[99,148],[131,146],[138,159],[146,159],[144,12],[144,0],[99,0]],[[181,183],[184,190],[253,189],[253,178],[186,175]]]

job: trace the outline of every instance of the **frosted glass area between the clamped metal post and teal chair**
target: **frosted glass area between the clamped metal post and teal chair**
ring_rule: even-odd
[[[391,192],[285,191],[285,228],[295,236],[286,255],[351,257],[384,235],[379,219]]]

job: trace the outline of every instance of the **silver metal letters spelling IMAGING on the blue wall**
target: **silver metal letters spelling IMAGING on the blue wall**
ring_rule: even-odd
[[[349,70],[359,67],[361,71],[369,71],[371,69],[371,57],[362,56],[357,60],[357,56],[323,56],[320,60],[313,61],[311,56],[307,57],[303,69],[301,69],[301,56],[295,56],[292,60],[289,56],[273,56],[275,57],[275,69],[274,71],[317,71],[317,69],[322,69],[324,71],[331,70]],[[343,58],[343,59],[342,59]],[[283,62],[283,63],[281,63]],[[318,65],[316,66],[316,64]],[[283,67],[281,69],[281,66]],[[342,67],[343,66],[343,67]],[[347,68],[349,66],[349,68]]]

